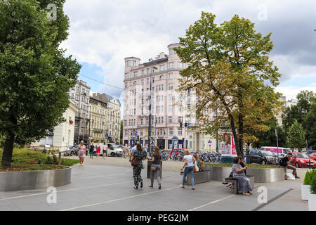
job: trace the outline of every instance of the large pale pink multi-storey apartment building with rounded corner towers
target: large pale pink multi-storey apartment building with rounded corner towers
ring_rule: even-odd
[[[171,149],[172,138],[178,137],[178,148],[187,146],[187,128],[185,123],[193,120],[187,117],[195,97],[192,90],[179,94],[179,71],[189,64],[181,63],[173,48],[179,44],[168,46],[169,55],[159,53],[154,60],[140,63],[136,57],[125,58],[124,77],[124,144],[139,140],[147,143],[150,77],[152,77],[152,133],[155,145],[160,149]],[[194,98],[194,99],[193,99]],[[182,127],[180,127],[182,124]],[[148,143],[147,143],[148,146]]]

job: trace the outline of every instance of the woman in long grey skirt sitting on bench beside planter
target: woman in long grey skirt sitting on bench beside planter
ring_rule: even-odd
[[[241,191],[244,195],[251,195],[251,184],[248,177],[246,177],[245,171],[247,167],[242,167],[242,158],[237,156],[234,159],[234,165],[232,165],[232,177],[238,180],[238,191]]]

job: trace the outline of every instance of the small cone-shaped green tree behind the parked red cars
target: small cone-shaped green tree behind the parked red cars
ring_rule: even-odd
[[[297,120],[294,120],[287,133],[287,145],[289,148],[298,148],[299,151],[305,145],[305,131]]]

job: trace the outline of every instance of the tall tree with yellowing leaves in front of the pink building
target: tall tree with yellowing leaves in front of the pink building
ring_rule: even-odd
[[[179,38],[176,52],[183,63],[191,64],[180,71],[179,91],[196,90],[199,128],[216,136],[220,127],[230,127],[237,155],[243,156],[244,141],[255,138],[245,128],[265,131],[265,122],[279,110],[280,94],[274,86],[281,75],[268,57],[271,34],[263,37],[254,30],[254,23],[238,15],[219,26],[214,18],[202,12],[185,37]]]

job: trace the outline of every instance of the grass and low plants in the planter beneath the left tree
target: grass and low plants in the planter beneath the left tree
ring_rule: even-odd
[[[3,149],[0,149],[0,161],[2,161],[2,154]],[[58,156],[48,155],[39,150],[14,148],[11,167],[4,169],[0,166],[0,172],[64,169],[65,166],[72,166],[77,163],[79,160],[62,158],[61,166],[59,166]]]

